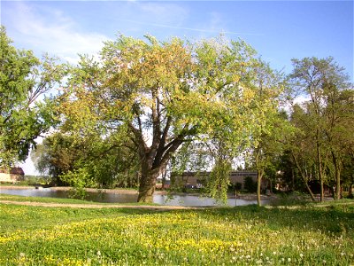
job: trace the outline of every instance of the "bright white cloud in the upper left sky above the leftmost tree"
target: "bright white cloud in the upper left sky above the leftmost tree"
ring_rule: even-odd
[[[70,63],[77,62],[78,53],[95,54],[108,38],[97,33],[85,33],[62,12],[18,2],[5,10],[11,23],[12,38],[23,48],[49,52]]]

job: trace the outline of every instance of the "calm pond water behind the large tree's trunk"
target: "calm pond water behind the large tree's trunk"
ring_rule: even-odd
[[[69,198],[68,191],[53,190],[50,188],[28,188],[28,189],[3,189],[0,193],[19,195],[27,197],[50,197],[50,198]],[[136,202],[137,194],[131,193],[110,193],[110,192],[88,192],[85,200],[105,203],[132,203]],[[206,206],[222,206],[218,201],[194,195],[175,195],[173,199],[169,199],[167,195],[155,194],[153,202],[160,205],[168,206],[186,206],[186,207],[206,207]],[[244,206],[257,204],[257,200],[235,200],[227,199],[227,206]],[[269,200],[262,200],[262,205],[269,204]]]

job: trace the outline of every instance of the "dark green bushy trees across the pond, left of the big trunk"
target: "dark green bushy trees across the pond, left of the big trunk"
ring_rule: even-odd
[[[31,157],[35,168],[42,175],[50,176],[55,184],[69,184],[70,177],[76,172],[85,174],[89,183],[83,182],[82,185],[86,186],[138,185],[136,154],[123,145],[112,144],[109,138],[78,138],[58,132],[37,145]]]

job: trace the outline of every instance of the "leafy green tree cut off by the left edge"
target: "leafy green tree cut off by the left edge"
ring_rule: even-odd
[[[63,76],[63,66],[12,46],[0,27],[0,166],[26,160],[35,138],[50,129],[54,102],[46,98]]]

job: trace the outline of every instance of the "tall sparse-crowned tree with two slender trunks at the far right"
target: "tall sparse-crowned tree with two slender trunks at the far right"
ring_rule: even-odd
[[[335,197],[339,199],[341,190],[341,158],[342,149],[335,140],[347,139],[350,124],[348,117],[350,106],[342,105],[343,90],[350,93],[348,75],[344,69],[338,66],[333,58],[317,59],[293,59],[294,71],[291,74],[296,84],[296,89],[306,93],[310,98],[306,112],[311,117],[312,125],[308,127],[312,132],[312,141],[316,147],[316,163],[321,187],[320,200],[323,200],[323,184],[325,182],[325,159],[324,155],[331,154],[331,163],[334,166]],[[352,118],[351,118],[352,119]],[[343,120],[346,122],[343,123]],[[308,125],[309,126],[309,125]],[[340,141],[341,142],[341,141]],[[326,156],[326,155],[325,155]]]

